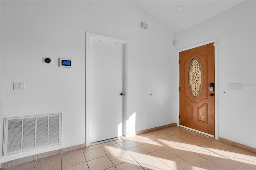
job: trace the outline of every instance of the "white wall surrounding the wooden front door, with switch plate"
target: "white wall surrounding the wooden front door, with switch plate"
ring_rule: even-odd
[[[218,38],[219,137],[256,148],[256,1],[176,33],[176,50]],[[178,57],[178,56],[177,56]],[[178,80],[178,78],[177,78]],[[242,90],[228,90],[242,83]],[[224,93],[225,92],[225,93]]]

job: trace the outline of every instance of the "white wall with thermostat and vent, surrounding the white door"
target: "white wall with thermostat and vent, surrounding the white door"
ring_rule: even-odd
[[[61,145],[1,162],[85,143],[86,31],[129,40],[128,115],[136,113],[136,131],[176,122],[174,34],[129,2],[1,1],[1,153],[4,117],[63,113]],[[58,58],[74,59],[74,67],[58,67]],[[14,81],[25,90],[12,90]]]

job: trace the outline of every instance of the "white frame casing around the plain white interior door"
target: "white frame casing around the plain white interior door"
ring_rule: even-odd
[[[118,39],[114,37],[108,37],[96,33],[86,32],[86,56],[85,56],[85,141],[86,147],[90,146],[90,38],[97,37],[99,39],[108,39],[108,41],[114,43],[120,43],[124,45],[124,136],[127,136],[128,129],[128,41],[124,39]]]

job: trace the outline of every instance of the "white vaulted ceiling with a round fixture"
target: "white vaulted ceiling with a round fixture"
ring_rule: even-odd
[[[132,0],[136,8],[173,33],[207,20],[244,0]],[[184,6],[183,12],[176,8]],[[150,27],[150,25],[149,25]]]

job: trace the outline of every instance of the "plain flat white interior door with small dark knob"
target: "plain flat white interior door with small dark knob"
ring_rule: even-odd
[[[90,143],[124,135],[124,45],[90,38]]]

